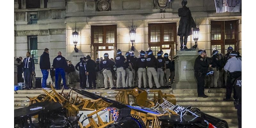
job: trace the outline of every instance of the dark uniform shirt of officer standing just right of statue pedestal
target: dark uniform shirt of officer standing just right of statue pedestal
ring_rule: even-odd
[[[207,71],[208,71],[208,67],[209,67],[209,64],[207,64],[203,57],[202,56],[198,56],[195,60],[195,65],[194,65],[194,69],[195,69],[195,72],[201,72],[201,73],[204,73],[206,74]]]

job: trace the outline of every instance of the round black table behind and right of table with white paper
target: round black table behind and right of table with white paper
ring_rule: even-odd
[[[43,127],[46,127],[46,124],[49,123],[49,121],[47,121],[47,118],[52,117],[54,115],[54,112],[56,112],[57,110],[60,110],[60,108],[62,107],[62,105],[59,102],[49,102],[49,101],[37,102],[37,103],[31,104],[30,106],[44,107],[44,110],[38,114],[38,123]]]

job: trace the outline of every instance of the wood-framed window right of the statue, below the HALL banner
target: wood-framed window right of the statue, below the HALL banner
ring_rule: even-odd
[[[222,54],[229,46],[236,50],[237,35],[238,20],[211,21],[211,49],[216,47]]]

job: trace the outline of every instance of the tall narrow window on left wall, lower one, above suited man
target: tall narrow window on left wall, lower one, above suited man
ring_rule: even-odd
[[[28,36],[28,51],[30,57],[34,59],[35,64],[38,63],[37,36]]]

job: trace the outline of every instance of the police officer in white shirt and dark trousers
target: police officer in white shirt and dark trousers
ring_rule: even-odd
[[[224,66],[224,70],[228,73],[228,79],[226,87],[226,98],[224,98],[223,100],[230,101],[233,83],[239,76],[242,75],[242,61],[237,58],[236,51],[230,52],[230,58],[228,59],[228,62]],[[235,100],[237,99],[235,90],[233,98]]]

